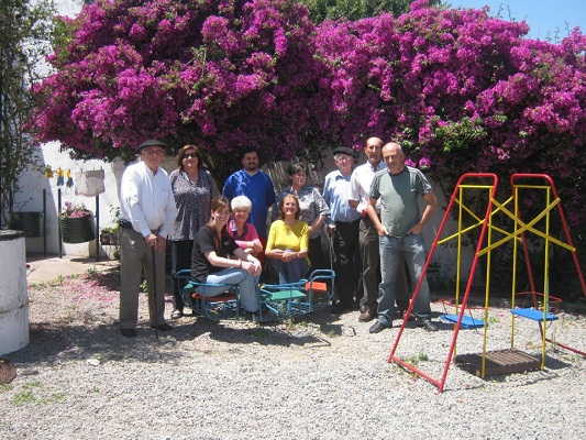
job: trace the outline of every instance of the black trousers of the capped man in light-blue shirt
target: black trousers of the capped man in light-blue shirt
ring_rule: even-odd
[[[354,297],[362,297],[362,258],[360,252],[358,223],[335,223],[333,248],[335,253],[335,287],[338,299],[346,307],[354,305]]]

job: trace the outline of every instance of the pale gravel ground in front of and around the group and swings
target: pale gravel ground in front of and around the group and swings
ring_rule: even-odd
[[[117,276],[30,286],[31,342],[4,355],[18,377],[0,386],[0,439],[586,438],[586,359],[568,351],[486,380],[452,365],[438,394],[386,362],[398,329],[369,334],[357,311],[270,326],[185,317],[156,340],[141,296],[139,338],[123,338]],[[549,334],[586,350],[586,318],[561,317]],[[510,348],[507,309],[488,322],[488,350]],[[446,323],[407,328],[397,354],[439,380],[452,337]],[[517,320],[515,342],[539,353],[537,324]],[[482,330],[461,331],[458,353],[482,348]]]

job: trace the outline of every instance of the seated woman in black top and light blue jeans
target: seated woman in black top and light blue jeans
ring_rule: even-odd
[[[230,201],[224,197],[213,199],[210,221],[200,228],[194,240],[191,278],[207,284],[237,284],[242,308],[255,312],[258,310],[261,262],[240,249],[228,234],[229,219]],[[231,260],[231,255],[236,260]],[[211,297],[223,294],[225,287],[200,286],[196,292]]]

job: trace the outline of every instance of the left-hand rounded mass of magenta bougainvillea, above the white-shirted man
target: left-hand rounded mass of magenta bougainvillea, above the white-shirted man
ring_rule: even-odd
[[[292,0],[103,0],[62,19],[29,124],[78,157],[144,139],[197,143],[225,176],[243,147],[291,157],[311,138],[319,64]]]

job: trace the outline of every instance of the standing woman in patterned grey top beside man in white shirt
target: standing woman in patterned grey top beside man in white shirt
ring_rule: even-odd
[[[194,239],[210,220],[211,202],[219,191],[209,170],[203,168],[201,153],[196,145],[185,145],[177,158],[178,168],[170,175],[177,217],[169,233],[172,273],[190,268]],[[173,283],[173,319],[184,316],[185,304],[178,280]]]

